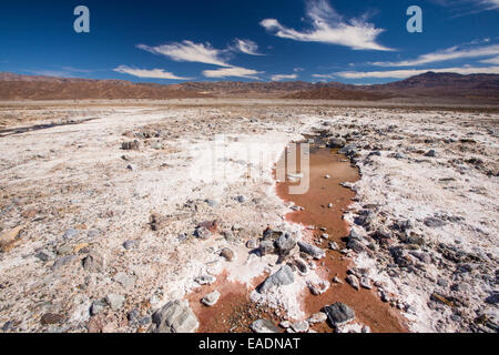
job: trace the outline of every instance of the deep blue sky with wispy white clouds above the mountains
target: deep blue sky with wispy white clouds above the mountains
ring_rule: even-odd
[[[90,33],[73,10],[90,9]],[[422,33],[409,33],[409,6]],[[135,82],[380,83],[499,73],[499,0],[3,2],[0,71]]]

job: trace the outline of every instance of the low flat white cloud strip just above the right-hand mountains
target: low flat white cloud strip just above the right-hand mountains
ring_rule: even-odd
[[[428,71],[432,71],[436,73],[458,73],[458,74],[499,74],[499,67],[486,67],[486,68],[477,68],[477,67],[458,67],[458,68],[440,68],[440,69],[408,69],[408,70],[391,70],[391,71],[368,71],[368,72],[359,72],[359,71],[342,71],[337,72],[336,75],[346,78],[346,79],[365,79],[365,78],[377,78],[377,79],[406,79],[414,75],[424,74]]]

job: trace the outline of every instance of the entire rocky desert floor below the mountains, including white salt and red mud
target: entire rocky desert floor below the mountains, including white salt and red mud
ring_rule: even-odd
[[[0,332],[497,332],[497,112],[1,103]]]

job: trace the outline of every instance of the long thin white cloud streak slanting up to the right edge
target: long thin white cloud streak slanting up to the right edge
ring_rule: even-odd
[[[499,44],[483,45],[472,49],[459,49],[458,47],[451,47],[437,52],[419,55],[413,60],[403,60],[398,62],[375,62],[371,64],[377,67],[411,67],[454,59],[479,58],[497,54],[499,54]]]

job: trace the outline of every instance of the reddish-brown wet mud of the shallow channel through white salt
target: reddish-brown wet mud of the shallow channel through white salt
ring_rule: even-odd
[[[299,166],[299,153],[297,166]],[[299,169],[298,169],[299,170]],[[329,175],[330,179],[326,179]],[[339,252],[329,250],[329,242],[336,242],[339,248],[345,247],[342,241],[348,235],[349,226],[343,221],[344,211],[352,203],[355,193],[343,187],[343,182],[355,182],[359,179],[357,169],[353,168],[345,156],[327,149],[314,149],[310,152],[309,161],[309,189],[305,194],[289,194],[289,186],[298,183],[289,181],[277,184],[277,194],[286,202],[294,202],[304,211],[294,211],[286,215],[286,219],[294,223],[306,226],[315,226],[310,231],[308,242],[327,250],[326,258],[320,261],[317,273],[332,283],[332,287],[319,296],[313,295],[309,291],[304,293],[304,311],[307,315],[319,312],[325,305],[343,302],[349,305],[356,313],[359,323],[368,325],[371,332],[394,333],[407,332],[404,318],[390,305],[383,303],[375,291],[356,291],[349,286],[345,278],[347,270],[354,266],[350,258]],[[333,203],[333,207],[328,205]],[[326,229],[325,232],[319,229]],[[322,234],[328,234],[328,240],[322,240]],[[338,276],[344,284],[335,284],[333,278]],[[327,324],[314,326],[317,332],[333,332]]]

